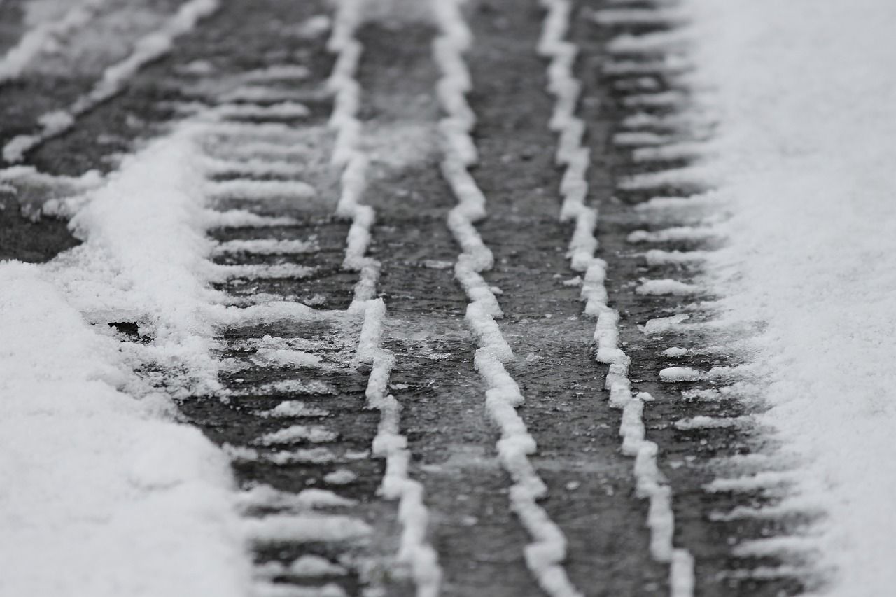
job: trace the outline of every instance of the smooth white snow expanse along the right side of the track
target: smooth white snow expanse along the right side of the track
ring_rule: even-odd
[[[814,458],[804,491],[843,597],[896,585],[896,4],[688,0],[735,209],[711,258],[732,316],[767,322],[764,420]]]

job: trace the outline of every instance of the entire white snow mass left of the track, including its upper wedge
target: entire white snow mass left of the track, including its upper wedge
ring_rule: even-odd
[[[193,143],[189,127],[152,143],[74,202],[80,247],[0,264],[0,593],[247,592],[227,457],[134,375],[217,384]],[[151,342],[119,342],[112,322]]]

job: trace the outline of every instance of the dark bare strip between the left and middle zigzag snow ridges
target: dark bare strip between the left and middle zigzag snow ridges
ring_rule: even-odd
[[[506,507],[495,431],[481,411],[467,299],[452,278],[457,248],[445,219],[454,199],[438,168],[432,15],[427,4],[405,8],[359,31],[369,61],[358,78],[369,90],[366,201],[378,214],[371,250],[383,264],[384,341],[397,357],[392,389],[410,469],[426,487],[442,594],[538,594],[523,561],[526,534]]]

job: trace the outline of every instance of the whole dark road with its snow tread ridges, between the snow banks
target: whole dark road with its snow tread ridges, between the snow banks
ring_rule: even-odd
[[[126,16],[110,1],[0,88],[7,165],[46,175],[0,187],[3,258],[78,243],[19,208],[196,126],[210,283],[239,315],[220,385],[147,375],[232,456],[258,594],[805,590],[762,541],[813,516],[757,514],[790,464],[697,283],[718,243],[687,167],[711,120],[681,117],[675,44],[637,43],[674,34],[665,3],[607,4],[223,3],[107,96],[133,56],[85,41]],[[177,3],[152,10],[128,35]],[[57,110],[65,130],[41,124]]]

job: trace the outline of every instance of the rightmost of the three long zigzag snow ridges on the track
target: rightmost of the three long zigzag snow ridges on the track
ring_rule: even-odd
[[[642,412],[650,394],[632,395],[628,379],[630,359],[618,346],[619,314],[607,306],[605,276],[607,264],[594,256],[598,239],[594,229],[598,221],[596,209],[585,204],[588,183],[585,174],[590,162],[588,148],[582,146],[585,124],[575,116],[581,83],[573,76],[576,46],[565,41],[573,3],[569,0],[541,0],[547,9],[538,53],[550,58],[547,66],[547,91],[556,97],[549,126],[560,135],[556,161],[565,166],[560,183],[563,207],[562,221],[574,221],[575,231],[569,252],[573,270],[584,273],[582,300],[585,313],[597,316],[594,337],[598,342],[598,360],[610,366],[607,389],[610,405],[622,408],[623,454],[634,456],[634,475],[637,495],[650,499],[647,524],[650,527],[650,555],[659,562],[669,563],[669,587],[674,597],[694,594],[694,558],[686,549],[676,549],[672,543],[675,519],[672,513],[671,489],[662,482],[657,466],[657,445],[644,438]]]

